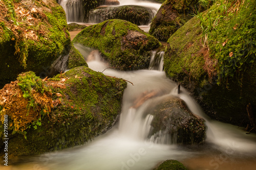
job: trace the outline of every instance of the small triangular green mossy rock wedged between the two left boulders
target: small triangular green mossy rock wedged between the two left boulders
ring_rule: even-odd
[[[87,66],[88,67],[87,62],[84,60],[81,53],[78,50],[76,50],[76,48],[74,47],[73,44],[72,44],[72,47],[71,47],[71,50],[69,53],[68,63],[69,63],[68,64],[69,69],[79,67],[79,66]]]

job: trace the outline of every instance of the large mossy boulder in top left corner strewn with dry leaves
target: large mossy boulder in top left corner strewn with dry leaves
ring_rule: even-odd
[[[23,71],[39,75],[57,58],[67,60],[71,41],[66,15],[55,0],[0,4],[0,88]]]

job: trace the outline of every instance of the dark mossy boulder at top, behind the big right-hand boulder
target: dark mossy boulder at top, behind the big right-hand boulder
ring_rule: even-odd
[[[166,42],[191,18],[191,14],[197,13],[196,8],[198,11],[203,10],[198,0],[166,0],[152,20],[149,33]]]

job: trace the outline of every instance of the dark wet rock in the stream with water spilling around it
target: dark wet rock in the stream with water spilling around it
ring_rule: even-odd
[[[154,115],[150,136],[159,140],[169,136],[170,141],[159,142],[195,144],[205,139],[204,120],[191,113],[180,99],[165,99],[148,114]]]

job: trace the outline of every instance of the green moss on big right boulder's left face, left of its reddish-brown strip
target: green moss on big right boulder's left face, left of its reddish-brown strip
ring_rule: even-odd
[[[195,35],[201,34],[201,28],[199,26],[194,27],[195,23],[199,23],[199,19],[193,18],[189,20],[189,22],[175,32],[167,41],[164,70],[169,77],[174,79],[179,77],[182,80],[182,77],[187,75],[193,80],[199,81],[204,76],[203,54],[199,53],[201,37],[195,37]],[[172,41],[176,43],[172,43]]]

